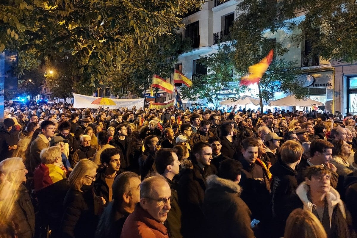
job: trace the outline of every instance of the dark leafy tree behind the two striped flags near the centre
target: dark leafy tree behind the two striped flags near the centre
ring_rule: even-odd
[[[174,34],[157,37],[156,44],[149,44],[149,51],[132,42],[127,58],[109,71],[103,83],[111,87],[111,92],[120,97],[125,92],[142,97],[150,87],[152,75],[170,78],[174,71],[180,50],[187,49],[190,42],[177,39]]]

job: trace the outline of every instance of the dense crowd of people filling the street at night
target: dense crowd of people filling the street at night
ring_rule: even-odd
[[[340,115],[9,106],[0,237],[356,237],[357,118]]]

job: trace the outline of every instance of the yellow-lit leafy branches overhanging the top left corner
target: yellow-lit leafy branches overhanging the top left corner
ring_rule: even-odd
[[[32,51],[42,63],[73,56],[91,85],[125,59],[132,42],[149,49],[182,27],[180,17],[203,0],[9,0],[0,5],[0,51]]]

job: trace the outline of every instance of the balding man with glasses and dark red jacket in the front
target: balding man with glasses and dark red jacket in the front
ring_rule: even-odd
[[[140,202],[126,219],[121,238],[169,238],[164,222],[171,209],[171,189],[165,178],[152,176],[140,184]]]

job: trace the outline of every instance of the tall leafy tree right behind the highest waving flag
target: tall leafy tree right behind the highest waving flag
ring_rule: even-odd
[[[258,63],[270,49],[275,49],[273,61],[258,83],[260,106],[262,100],[274,98],[275,92],[291,92],[296,98],[308,94],[296,76],[299,67],[296,61],[286,61],[282,56],[288,51],[280,42],[271,41],[265,32],[274,33],[284,26],[281,18],[276,17],[275,5],[269,0],[243,0],[237,5],[239,12],[233,26],[231,37],[235,54],[233,62],[239,77],[247,74],[249,66]]]

